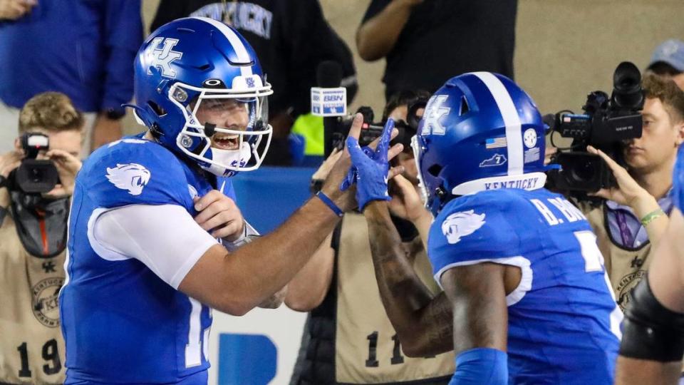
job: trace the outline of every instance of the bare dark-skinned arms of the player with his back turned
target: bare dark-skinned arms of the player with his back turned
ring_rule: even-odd
[[[404,354],[430,356],[472,347],[505,351],[505,287],[512,291],[517,286],[517,268],[484,263],[447,270],[442,275],[445,291],[433,297],[404,256],[387,203],[371,202],[363,214],[380,297]]]

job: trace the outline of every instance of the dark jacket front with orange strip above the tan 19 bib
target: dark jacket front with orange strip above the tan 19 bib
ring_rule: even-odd
[[[42,200],[40,195],[13,192],[11,209],[16,233],[26,252],[38,258],[50,258],[63,252],[68,198]]]

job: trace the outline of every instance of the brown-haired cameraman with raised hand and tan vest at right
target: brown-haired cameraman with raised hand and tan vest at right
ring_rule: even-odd
[[[645,276],[648,257],[668,225],[672,210],[672,172],[679,145],[684,142],[684,93],[673,81],[646,75],[642,81],[646,101],[641,138],[625,141],[626,168],[605,153],[598,154],[611,169],[617,186],[598,190],[602,205],[581,204],[598,237],[606,271],[616,299],[624,310],[630,292]]]

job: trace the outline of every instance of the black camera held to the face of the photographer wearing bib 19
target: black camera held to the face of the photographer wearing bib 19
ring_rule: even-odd
[[[27,194],[47,193],[59,183],[59,174],[52,160],[38,160],[41,151],[48,150],[50,140],[41,133],[21,135],[21,148],[26,155],[21,165],[12,170],[7,178],[10,191],[19,190]]]

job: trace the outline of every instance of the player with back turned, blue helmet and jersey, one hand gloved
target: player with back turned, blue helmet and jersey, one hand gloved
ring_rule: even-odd
[[[455,349],[451,384],[613,383],[622,314],[586,218],[543,188],[544,124],[522,89],[467,73],[427,103],[413,147],[435,215],[427,255],[444,289],[436,297],[398,247],[385,157],[353,138],[347,145],[383,305],[405,354]],[[418,194],[402,193],[415,212]],[[430,222],[420,216],[410,215],[418,227]]]

